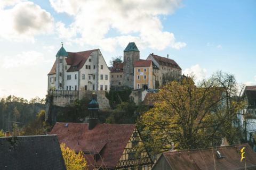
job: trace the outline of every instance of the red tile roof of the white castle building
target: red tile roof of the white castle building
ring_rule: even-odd
[[[70,65],[70,68],[67,70],[67,72],[73,72],[73,71],[78,71],[80,70],[83,66],[86,60],[89,58],[92,52],[96,52],[99,49],[92,49],[92,50],[87,50],[84,52],[68,52],[68,57],[66,59],[66,62],[68,65]],[[56,68],[56,61],[54,62],[52,69],[50,71],[50,74],[55,74],[55,68]]]

